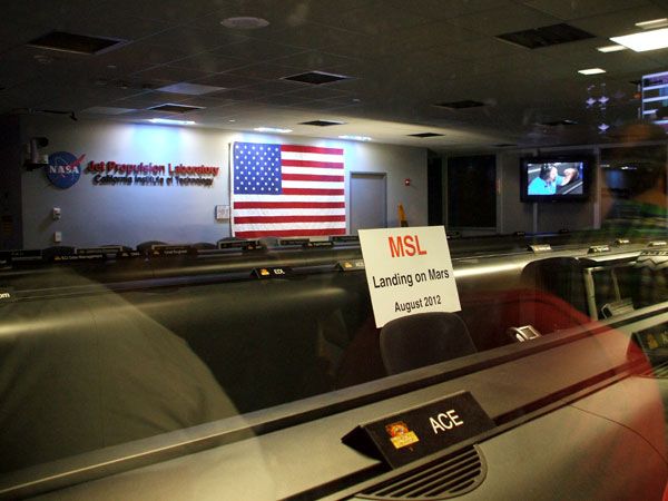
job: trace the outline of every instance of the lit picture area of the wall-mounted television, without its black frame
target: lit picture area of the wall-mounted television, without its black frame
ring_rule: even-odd
[[[527,195],[583,195],[583,161],[527,163]]]

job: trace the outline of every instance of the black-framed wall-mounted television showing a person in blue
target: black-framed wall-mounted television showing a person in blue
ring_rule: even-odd
[[[525,157],[520,164],[522,202],[588,200],[593,157],[561,155]]]

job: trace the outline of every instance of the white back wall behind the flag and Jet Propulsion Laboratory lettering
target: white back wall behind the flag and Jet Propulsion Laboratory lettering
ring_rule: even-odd
[[[60,245],[71,246],[135,246],[146,240],[215,243],[229,236],[228,222],[216,222],[214,207],[229,204],[228,146],[233,141],[344,148],[346,196],[351,171],[386,173],[390,226],[397,225],[400,203],[411,226],[426,225],[426,150],[422,148],[38,116],[26,117],[22,136],[23,140],[46,136],[47,154],[86,154],[84,165],[112,160],[220,167],[212,187],[95,186],[92,175],[82,174],[75,186],[60,189],[49,183],[42,170],[23,173],[24,248],[55,245],[55,232],[62,233]],[[405,178],[411,178],[410,187],[404,186]],[[60,220],[51,218],[53,207],[61,209]]]

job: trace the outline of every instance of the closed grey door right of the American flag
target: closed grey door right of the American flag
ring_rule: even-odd
[[[386,175],[351,174],[351,234],[357,229],[387,227]]]

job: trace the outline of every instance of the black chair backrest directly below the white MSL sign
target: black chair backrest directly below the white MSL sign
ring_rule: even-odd
[[[387,374],[475,353],[464,322],[454,313],[418,313],[381,330],[381,356]]]

